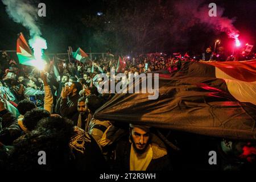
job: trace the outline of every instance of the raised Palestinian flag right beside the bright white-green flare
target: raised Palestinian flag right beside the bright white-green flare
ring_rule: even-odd
[[[21,32],[17,39],[16,53],[19,59],[19,64],[34,65],[35,57]]]

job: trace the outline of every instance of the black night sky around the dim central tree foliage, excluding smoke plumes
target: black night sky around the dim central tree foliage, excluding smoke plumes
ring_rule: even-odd
[[[100,0],[87,0],[87,1],[41,1],[46,3],[46,14],[44,18],[38,19],[38,25],[42,31],[42,36],[47,40],[48,52],[60,53],[66,52],[68,46],[72,46],[73,49],[77,47],[83,48],[86,52],[89,49],[92,52],[105,52],[112,47],[98,46],[93,41],[93,30],[82,24],[81,19],[86,16],[97,16],[97,12],[105,13],[106,3],[108,1]],[[116,6],[122,9],[125,6],[125,1],[117,2]],[[157,1],[156,1],[157,2]],[[162,5],[166,1],[158,1]],[[213,1],[209,1],[213,2]],[[236,18],[234,26],[240,31],[240,39],[242,43],[256,43],[256,1],[255,0],[243,0],[243,1],[214,1],[217,6],[221,6],[225,9],[224,16],[228,18]],[[115,4],[115,3],[114,3]],[[35,3],[36,6],[36,3]],[[173,7],[170,7],[170,11],[173,11]],[[173,17],[179,19],[179,17]],[[22,25],[15,23],[9,18],[5,11],[5,6],[0,1],[0,49],[15,50],[16,47],[16,34],[23,32],[28,39],[29,33]],[[232,43],[232,39],[229,39],[225,33],[214,32],[203,26],[195,25],[188,28],[185,32],[176,35],[168,35],[168,33],[161,35],[162,39],[174,40],[173,36],[177,36],[178,39],[170,41],[170,43],[158,44],[152,43],[144,52],[151,51],[164,51],[167,53],[175,51],[191,51],[193,53],[201,52],[209,45],[213,46],[216,39],[222,40],[222,46],[229,50],[229,44]],[[180,34],[180,35],[178,35]],[[152,36],[153,35],[148,35]],[[149,37],[151,39],[151,37]],[[180,39],[180,41],[179,41]],[[181,41],[181,39],[183,41]],[[120,38],[121,44],[126,44],[125,40]],[[108,45],[108,44],[106,44]],[[117,48],[112,48],[112,51],[121,51]],[[128,48],[122,49],[122,51],[129,52]],[[139,50],[141,51],[141,50]],[[138,51],[138,52],[139,52]]]

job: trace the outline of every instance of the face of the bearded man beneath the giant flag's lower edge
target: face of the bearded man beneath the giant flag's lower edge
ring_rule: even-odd
[[[131,138],[133,140],[135,150],[145,151],[149,144],[150,133],[140,129],[139,127],[134,127],[131,130]]]

